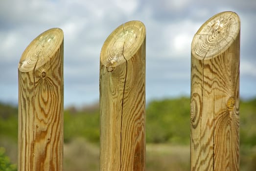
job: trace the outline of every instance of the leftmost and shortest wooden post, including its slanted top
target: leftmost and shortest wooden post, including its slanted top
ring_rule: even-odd
[[[19,171],[63,170],[63,32],[49,29],[19,66]]]

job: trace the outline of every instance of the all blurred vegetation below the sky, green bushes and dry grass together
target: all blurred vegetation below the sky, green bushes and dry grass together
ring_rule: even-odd
[[[241,101],[239,110],[240,170],[255,171],[256,99]],[[6,155],[10,157],[11,163],[17,162],[17,113],[17,107],[0,104],[0,147],[5,148]],[[147,170],[167,171],[170,167],[176,171],[188,170],[189,136],[189,98],[155,100],[148,103],[146,107]],[[81,109],[75,107],[65,109],[64,142],[65,171],[80,171],[83,168],[85,169],[84,165],[88,167],[86,170],[98,170],[98,104]],[[0,149],[0,167],[8,166],[15,169],[2,151]],[[4,165],[2,165],[2,161],[4,161]],[[79,165],[79,161],[81,165]],[[0,171],[2,171],[1,168]]]

